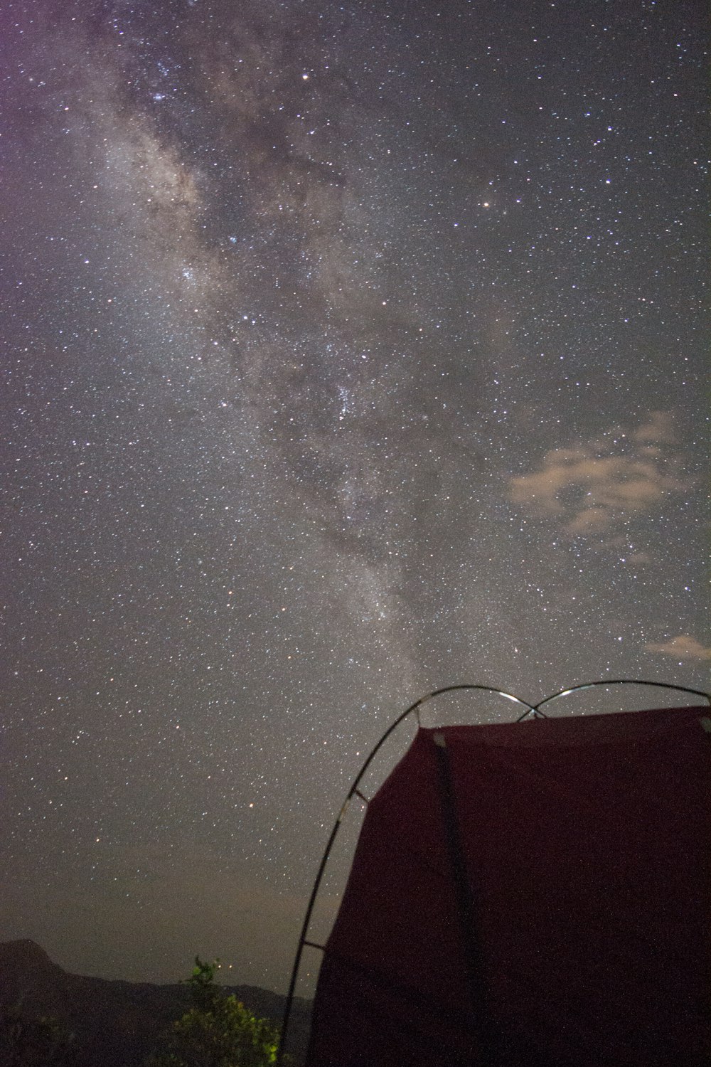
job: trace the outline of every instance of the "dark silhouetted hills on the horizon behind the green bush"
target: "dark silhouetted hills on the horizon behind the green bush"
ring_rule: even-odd
[[[285,997],[258,986],[224,986],[251,1012],[280,1024]],[[116,982],[69,974],[34,941],[0,942],[0,1013],[20,1005],[27,1019],[52,1016],[75,1034],[77,1067],[139,1067],[161,1034],[190,1006],[181,985]],[[310,1001],[294,1003],[289,1046],[301,1058]],[[0,1067],[6,1053],[0,1049]]]

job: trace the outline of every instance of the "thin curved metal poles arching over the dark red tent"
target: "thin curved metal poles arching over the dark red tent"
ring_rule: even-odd
[[[289,990],[288,990],[288,993],[287,993],[287,1004],[286,1004],[286,1008],[285,1008],[285,1013],[284,1013],[284,1020],[282,1020],[282,1023],[281,1023],[281,1034],[280,1034],[280,1037],[279,1037],[279,1046],[278,1046],[277,1054],[276,1054],[276,1064],[277,1064],[277,1067],[280,1067],[280,1065],[282,1063],[282,1057],[284,1057],[284,1053],[285,1053],[286,1046],[287,1046],[287,1037],[288,1037],[288,1032],[289,1032],[289,1020],[290,1020],[290,1017],[291,1017],[291,1008],[292,1008],[294,993],[295,993],[295,989],[296,989],[296,983],[298,981],[298,972],[300,972],[300,969],[301,969],[301,962],[302,962],[302,956],[303,956],[303,953],[304,953],[304,949],[306,946],[308,946],[310,949],[318,949],[320,952],[325,952],[325,945],[318,944],[314,941],[309,941],[308,940],[308,930],[309,930],[309,926],[311,924],[311,917],[313,914],[313,908],[314,908],[314,905],[316,905],[317,896],[319,895],[319,890],[320,890],[321,883],[323,881],[323,877],[324,877],[324,874],[325,874],[325,871],[326,871],[326,865],[328,863],[328,859],[330,857],[332,849],[334,847],[336,838],[338,837],[338,831],[341,828],[341,824],[342,824],[342,822],[343,822],[343,819],[345,817],[345,814],[346,814],[346,812],[349,810],[349,807],[350,807],[350,803],[351,803],[351,800],[353,799],[353,797],[357,796],[358,799],[361,800],[363,803],[366,803],[366,805],[369,803],[368,797],[363,796],[363,794],[360,792],[360,790],[358,789],[358,786],[360,785],[360,782],[361,782],[361,780],[362,780],[366,771],[370,767],[370,765],[373,762],[374,758],[376,757],[376,754],[378,753],[378,751],[381,750],[381,748],[383,747],[383,745],[385,744],[385,742],[388,739],[388,737],[410,715],[415,715],[415,717],[417,719],[418,727],[419,727],[421,724],[420,723],[420,708],[424,704],[430,703],[430,701],[434,700],[436,697],[441,697],[441,696],[443,696],[445,694],[448,694],[448,692],[457,692],[457,691],[464,691],[464,690],[479,690],[479,691],[491,692],[491,694],[496,694],[497,696],[504,697],[506,700],[511,700],[515,704],[518,704],[520,707],[524,708],[524,711],[522,712],[522,714],[519,715],[519,717],[514,720],[515,722],[522,722],[523,719],[528,718],[529,716],[533,716],[533,718],[547,718],[546,713],[540,711],[540,708],[544,706],[544,704],[550,704],[554,700],[560,700],[562,697],[567,697],[567,696],[569,696],[572,692],[580,692],[580,691],[582,691],[584,689],[593,689],[593,688],[597,688],[597,687],[607,687],[607,686],[613,686],[613,685],[615,685],[615,686],[616,685],[646,685],[646,686],[653,686],[653,687],[661,688],[661,689],[674,689],[674,690],[676,690],[678,692],[688,692],[688,694],[691,694],[692,696],[695,696],[695,697],[702,697],[705,700],[707,700],[709,702],[709,704],[711,704],[711,694],[705,692],[702,689],[692,689],[689,686],[676,685],[676,684],[667,683],[667,682],[650,682],[650,681],[647,681],[645,679],[627,679],[627,678],[623,678],[623,679],[603,679],[603,680],[600,680],[600,681],[597,681],[597,682],[583,682],[580,685],[573,685],[573,686],[570,686],[569,688],[561,689],[558,692],[551,694],[548,697],[544,697],[543,700],[539,700],[535,704],[530,704],[528,701],[521,700],[520,697],[516,697],[516,696],[514,696],[511,692],[505,692],[503,689],[497,689],[496,687],[490,686],[490,685],[460,684],[460,685],[448,685],[448,686],[445,686],[441,689],[434,689],[432,692],[426,694],[424,697],[420,697],[419,700],[416,700],[415,703],[410,704],[409,707],[407,707],[401,715],[399,715],[398,718],[394,720],[394,722],[390,723],[390,726],[387,728],[387,730],[385,731],[385,733],[381,736],[379,740],[375,744],[375,746],[373,747],[373,749],[370,751],[370,753],[366,758],[362,766],[360,767],[360,770],[356,775],[356,777],[355,777],[355,779],[353,781],[353,784],[351,785],[351,789],[349,790],[349,792],[346,794],[345,800],[343,801],[341,810],[338,813],[338,816],[336,818],[334,827],[333,827],[333,829],[330,831],[330,834],[328,837],[328,841],[326,842],[326,846],[324,848],[323,856],[321,858],[321,863],[319,864],[319,870],[317,872],[317,876],[316,876],[316,879],[314,879],[314,882],[313,882],[313,888],[311,890],[311,894],[310,894],[310,897],[309,897],[308,906],[306,908],[306,914],[304,917],[304,922],[302,924],[301,935],[300,935],[300,938],[298,938],[298,945],[296,947],[296,955],[294,956],[294,964],[293,964],[293,968],[292,968],[292,972],[291,972],[291,980],[290,980],[290,983],[289,983]]]

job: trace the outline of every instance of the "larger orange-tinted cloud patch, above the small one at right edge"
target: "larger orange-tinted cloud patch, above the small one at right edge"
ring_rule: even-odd
[[[669,413],[651,412],[631,432],[610,430],[601,440],[552,449],[537,471],[511,478],[508,497],[534,514],[562,519],[567,534],[610,530],[689,488],[669,447],[674,440]]]

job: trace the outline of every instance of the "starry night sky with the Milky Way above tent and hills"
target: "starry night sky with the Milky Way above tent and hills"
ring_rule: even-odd
[[[706,688],[705,18],[3,5],[0,939],[284,989],[411,701]]]

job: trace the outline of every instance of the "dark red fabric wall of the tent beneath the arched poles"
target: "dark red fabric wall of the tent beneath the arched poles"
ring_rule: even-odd
[[[307,1067],[701,1067],[708,707],[419,730],[371,800]]]

